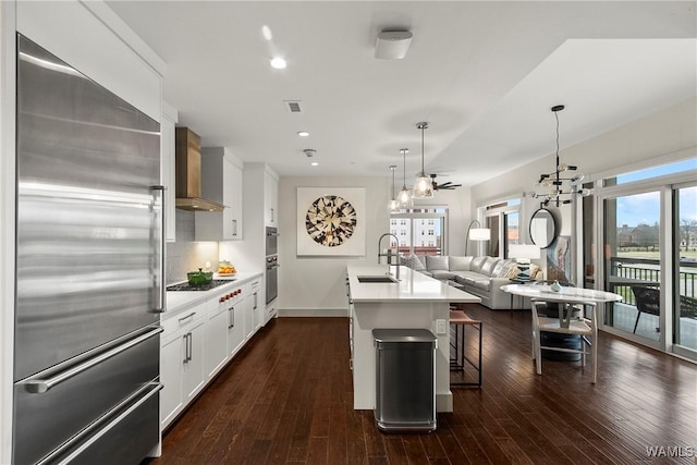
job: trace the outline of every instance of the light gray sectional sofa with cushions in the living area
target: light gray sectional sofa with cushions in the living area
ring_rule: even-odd
[[[510,309],[511,294],[501,291],[518,274],[513,259],[498,257],[456,257],[456,256],[415,256],[402,258],[402,265],[441,281],[454,281],[463,290],[481,298],[481,304],[492,310]],[[536,265],[530,266],[530,277],[540,279],[541,272]],[[521,305],[514,298],[514,305]]]

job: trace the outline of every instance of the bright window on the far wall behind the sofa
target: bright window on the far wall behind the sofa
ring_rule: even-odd
[[[400,254],[447,255],[448,208],[408,208],[391,213],[390,223],[399,221]],[[418,237],[418,238],[417,238]]]

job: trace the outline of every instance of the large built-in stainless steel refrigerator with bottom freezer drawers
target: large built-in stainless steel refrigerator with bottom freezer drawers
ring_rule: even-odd
[[[159,442],[159,123],[17,36],[13,463]]]

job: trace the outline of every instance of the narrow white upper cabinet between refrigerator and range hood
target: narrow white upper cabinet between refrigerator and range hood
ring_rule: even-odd
[[[162,155],[160,178],[164,186],[164,238],[167,242],[176,240],[176,222],[175,222],[175,178],[174,178],[174,160],[175,145],[174,133],[178,121],[178,112],[174,108],[162,102],[162,120],[160,123],[160,151]]]

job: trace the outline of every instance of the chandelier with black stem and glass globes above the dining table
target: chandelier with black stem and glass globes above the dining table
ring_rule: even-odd
[[[547,206],[553,203],[557,207],[564,204],[571,204],[574,195],[580,195],[586,197],[590,195],[590,191],[587,188],[578,187],[578,183],[584,179],[584,175],[576,173],[571,178],[562,178],[561,173],[566,171],[576,171],[577,167],[572,164],[561,163],[559,161],[559,112],[564,109],[563,105],[557,105],[551,108],[557,119],[557,164],[554,171],[551,173],[540,174],[540,179],[535,185],[540,188],[541,192],[534,192],[533,197],[542,198],[542,205]],[[550,188],[551,187],[551,188]],[[564,198],[564,196],[570,196]]]

